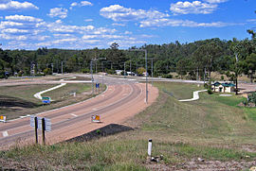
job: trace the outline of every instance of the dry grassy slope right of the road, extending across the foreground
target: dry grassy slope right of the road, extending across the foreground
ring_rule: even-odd
[[[202,89],[190,84],[155,85],[176,98],[190,98],[192,91]],[[242,97],[201,93],[200,100],[182,103],[174,96],[160,91],[152,107],[127,122],[137,127],[134,131],[87,143],[16,146],[0,153],[0,163],[9,159],[18,163],[10,162],[11,167],[23,165],[31,170],[145,170],[149,138],[153,138],[153,154],[163,154],[169,164],[197,157],[239,161],[248,155],[249,160],[255,159],[256,153],[241,148],[256,143],[254,109],[236,107]]]

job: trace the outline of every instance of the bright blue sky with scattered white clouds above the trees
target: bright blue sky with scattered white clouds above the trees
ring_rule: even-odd
[[[0,0],[3,49],[249,38],[256,0]]]

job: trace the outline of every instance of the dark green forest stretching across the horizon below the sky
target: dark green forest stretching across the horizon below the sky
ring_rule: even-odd
[[[203,79],[211,72],[219,72],[234,80],[245,74],[253,81],[256,70],[256,38],[253,31],[245,40],[220,40],[219,38],[193,43],[144,44],[140,47],[119,49],[112,43],[107,49],[0,49],[0,77],[45,76],[52,73],[114,74],[115,70],[137,73],[145,68],[145,49],[148,73],[155,77],[172,77],[177,73],[186,79]],[[140,51],[139,51],[140,50]]]

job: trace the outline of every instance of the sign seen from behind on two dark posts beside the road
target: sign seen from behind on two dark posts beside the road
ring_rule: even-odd
[[[50,119],[48,118],[42,118],[42,117],[37,117],[37,116],[30,116],[30,126],[35,128],[35,136],[36,136],[36,144],[38,144],[38,134],[37,134],[37,129],[42,130],[42,135],[43,135],[43,143],[46,145],[46,135],[45,131],[51,131],[51,122]]]

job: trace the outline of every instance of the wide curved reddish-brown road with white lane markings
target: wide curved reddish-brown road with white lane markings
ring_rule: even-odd
[[[95,80],[108,85],[106,92],[74,105],[39,114],[40,117],[51,119],[52,130],[46,132],[47,144],[62,142],[108,124],[123,123],[151,105],[158,95],[157,89],[149,85],[149,104],[145,104],[145,84],[114,77],[96,76]],[[91,123],[92,114],[100,114],[102,123]],[[39,129],[38,132],[41,135]],[[34,141],[34,128],[29,126],[29,118],[0,123],[0,148],[31,144]]]

